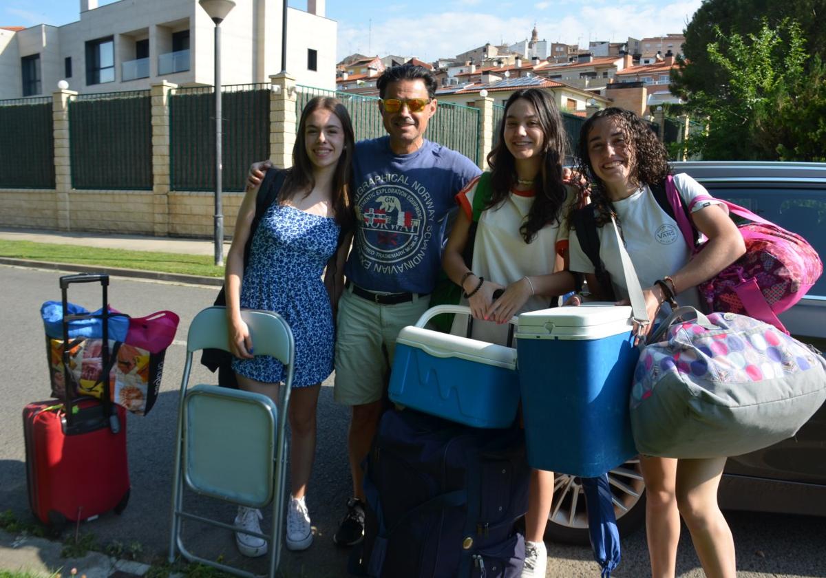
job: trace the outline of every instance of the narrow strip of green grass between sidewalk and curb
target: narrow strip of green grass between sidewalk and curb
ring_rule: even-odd
[[[74,244],[32,243],[31,241],[0,239],[0,257],[137,269],[139,271],[183,273],[202,277],[224,276],[224,268],[216,267],[215,259],[208,255],[100,249]]]

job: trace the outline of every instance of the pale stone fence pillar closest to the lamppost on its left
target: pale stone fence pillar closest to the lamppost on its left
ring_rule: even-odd
[[[154,235],[169,235],[169,91],[177,84],[152,84],[152,214]]]

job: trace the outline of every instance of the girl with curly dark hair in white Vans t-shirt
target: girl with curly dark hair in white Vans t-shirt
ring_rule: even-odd
[[[671,173],[667,153],[653,131],[637,115],[607,108],[591,116],[580,131],[579,171],[591,182],[591,203],[600,237],[600,259],[610,277],[610,289],[601,286],[594,265],[583,253],[575,231],[571,231],[570,267],[586,274],[596,300],[611,292],[627,305],[619,249],[610,226],[613,214],[619,224],[631,261],[643,289],[648,319],[657,319],[663,301],[698,306],[696,286],[714,277],[745,253],[743,237],[726,210],[718,203],[698,203],[691,213],[697,230],[708,238],[703,249],[690,260],[676,221],[662,211],[651,192],[652,185],[665,182]],[[702,194],[700,183],[686,174],[674,182],[687,203]],[[605,282],[605,278],[603,279]],[[587,296],[575,296],[578,305]],[[650,327],[650,325],[649,325]],[[648,330],[642,329],[641,332]],[[729,525],[717,505],[717,488],[725,458],[677,460],[640,456],[646,488],[648,556],[653,578],[673,578],[676,547],[680,538],[680,515],[686,521],[705,576],[734,578],[734,542]]]

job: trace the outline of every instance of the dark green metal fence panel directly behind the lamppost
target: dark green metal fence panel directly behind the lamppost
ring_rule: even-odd
[[[169,97],[173,191],[215,189],[215,90],[175,88]],[[221,187],[243,191],[249,165],[269,158],[269,84],[221,87]]]

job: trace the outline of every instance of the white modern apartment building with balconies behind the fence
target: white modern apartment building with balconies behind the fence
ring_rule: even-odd
[[[215,25],[197,0],[80,1],[80,20],[0,29],[0,99],[49,95],[65,80],[80,93],[212,85]],[[281,72],[278,0],[236,0],[221,23],[221,84],[269,82]],[[337,24],[325,0],[287,8],[287,73],[335,89]]]

